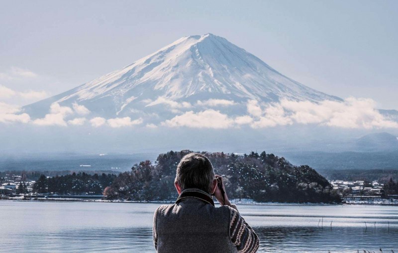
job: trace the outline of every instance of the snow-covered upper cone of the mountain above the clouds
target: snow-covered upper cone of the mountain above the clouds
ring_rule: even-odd
[[[269,103],[284,98],[341,100],[282,75],[244,49],[208,33],[183,37],[131,65],[23,110],[39,118],[54,102],[69,107],[78,103],[94,116],[142,117],[166,107],[174,110],[166,114],[175,115],[177,109],[209,100],[237,105],[251,99]]]

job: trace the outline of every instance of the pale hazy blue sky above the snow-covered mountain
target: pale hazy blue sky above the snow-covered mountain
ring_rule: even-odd
[[[311,88],[398,109],[398,1],[0,3],[0,102],[31,103],[211,32]]]

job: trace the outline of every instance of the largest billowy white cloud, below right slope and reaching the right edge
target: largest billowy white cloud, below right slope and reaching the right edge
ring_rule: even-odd
[[[257,119],[251,127],[276,127],[298,124],[317,124],[341,128],[398,128],[398,123],[386,119],[376,109],[375,101],[363,98],[348,98],[343,102],[282,100],[264,110],[257,102],[247,103],[249,114]],[[261,113],[260,113],[261,111]]]

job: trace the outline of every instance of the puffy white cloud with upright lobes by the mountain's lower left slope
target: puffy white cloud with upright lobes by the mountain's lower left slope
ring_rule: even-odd
[[[53,103],[50,106],[50,113],[46,114],[44,118],[36,119],[33,124],[39,126],[63,126],[66,127],[65,117],[72,115],[73,111],[70,107],[60,106],[58,103]]]

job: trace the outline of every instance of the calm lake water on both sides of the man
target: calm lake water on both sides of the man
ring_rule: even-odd
[[[0,252],[154,252],[152,217],[158,206],[0,201]],[[398,253],[398,207],[238,208],[260,237],[259,252],[362,253],[381,248]],[[323,228],[321,222],[318,227],[321,217]]]

